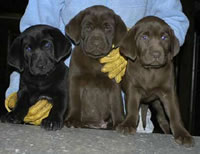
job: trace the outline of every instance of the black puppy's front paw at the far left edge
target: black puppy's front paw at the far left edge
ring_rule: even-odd
[[[20,116],[20,114],[17,114],[15,112],[9,112],[6,115],[1,117],[1,122],[7,122],[7,123],[13,123],[13,124],[22,124],[23,118]]]

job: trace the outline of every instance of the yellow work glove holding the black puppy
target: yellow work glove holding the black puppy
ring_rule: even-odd
[[[5,107],[8,112],[11,112],[15,107],[16,101],[17,93],[12,93],[5,100]],[[46,99],[39,100],[35,105],[29,108],[27,115],[24,117],[24,122],[33,125],[40,125],[42,120],[48,117],[51,108],[52,104]]]

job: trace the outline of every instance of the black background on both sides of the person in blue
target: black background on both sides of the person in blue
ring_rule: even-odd
[[[5,91],[13,71],[7,66],[7,51],[19,34],[19,20],[27,2],[28,0],[0,2],[0,115],[6,112]],[[185,43],[175,59],[177,90],[185,127],[192,135],[200,136],[200,0],[181,2],[183,11],[190,20],[190,27]]]

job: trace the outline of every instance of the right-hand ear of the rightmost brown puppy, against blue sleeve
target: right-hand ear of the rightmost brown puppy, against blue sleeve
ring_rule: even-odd
[[[171,52],[172,56],[176,56],[180,50],[180,44],[178,39],[176,38],[174,31],[170,28],[170,37],[171,37]]]

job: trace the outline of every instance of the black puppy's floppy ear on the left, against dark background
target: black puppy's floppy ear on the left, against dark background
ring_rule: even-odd
[[[24,70],[24,50],[22,49],[22,37],[18,36],[12,43],[8,55],[7,62],[10,66],[15,67],[19,72]]]

